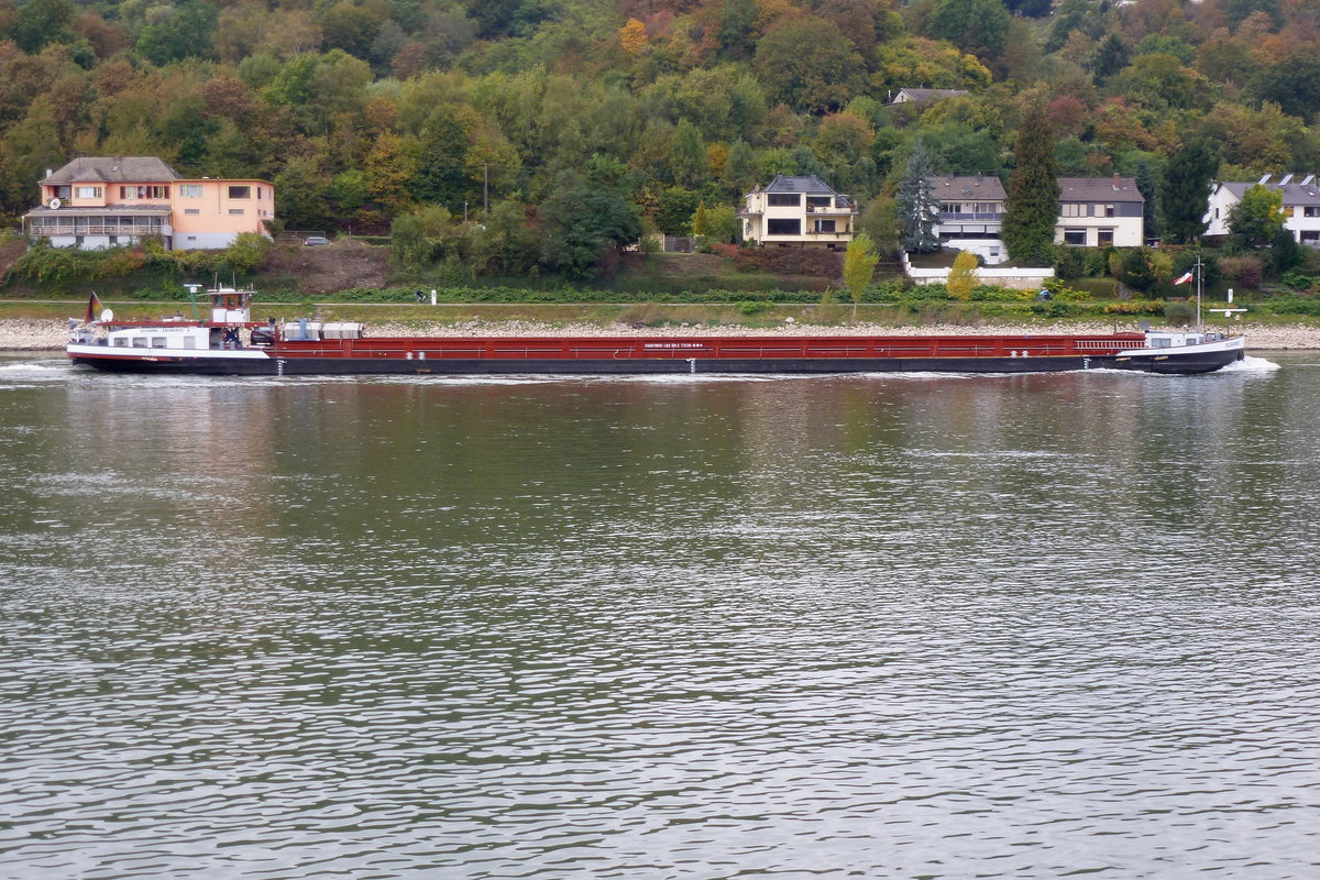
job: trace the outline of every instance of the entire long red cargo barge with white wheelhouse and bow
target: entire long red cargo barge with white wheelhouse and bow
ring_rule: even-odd
[[[894,336],[367,336],[359,323],[251,319],[252,292],[209,292],[209,321],[70,319],[74,364],[107,372],[251,376],[510,373],[1205,373],[1245,339],[1204,330]]]

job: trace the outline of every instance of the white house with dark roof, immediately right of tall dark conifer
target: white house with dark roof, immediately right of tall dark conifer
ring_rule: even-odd
[[[1140,247],[1146,243],[1144,204],[1130,177],[1060,177],[1055,244]]]

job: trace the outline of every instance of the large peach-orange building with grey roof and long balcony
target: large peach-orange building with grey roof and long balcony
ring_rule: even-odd
[[[242,232],[268,235],[269,181],[185,178],[154,156],[79,157],[40,182],[22,216],[29,239],[108,248],[161,240],[168,249],[226,248]]]

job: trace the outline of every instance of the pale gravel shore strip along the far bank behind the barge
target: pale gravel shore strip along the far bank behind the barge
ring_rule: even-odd
[[[785,323],[779,330],[748,327],[643,327],[628,325],[539,325],[521,321],[473,321],[461,325],[371,325],[372,336],[722,336],[755,335],[821,335],[821,336],[886,336],[886,335],[972,335],[972,334],[1104,334],[1113,331],[1111,323],[1051,325],[1026,327],[1010,325],[981,326],[907,326],[892,327],[858,323],[850,326],[817,326]],[[1135,330],[1135,325],[1119,330]],[[69,338],[65,321],[9,319],[0,321],[0,351],[61,350]],[[1247,326],[1247,346],[1257,351],[1283,351],[1294,348],[1320,350],[1320,327],[1304,326]]]

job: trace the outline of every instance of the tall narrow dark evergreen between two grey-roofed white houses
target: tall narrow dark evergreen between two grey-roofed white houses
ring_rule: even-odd
[[[1016,166],[1008,175],[999,235],[1014,260],[1051,265],[1059,219],[1059,172],[1055,133],[1040,104],[1034,104],[1023,116],[1014,156]]]

